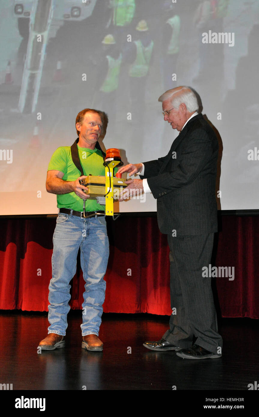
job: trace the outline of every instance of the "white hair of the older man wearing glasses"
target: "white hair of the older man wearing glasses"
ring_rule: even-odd
[[[176,95],[175,98],[174,95]],[[199,108],[196,95],[194,94],[193,90],[191,90],[191,88],[187,87],[186,85],[167,90],[158,98],[158,101],[168,100],[169,98],[171,98],[171,103],[174,108],[179,108],[181,103],[186,105],[186,108],[190,113],[197,111]]]

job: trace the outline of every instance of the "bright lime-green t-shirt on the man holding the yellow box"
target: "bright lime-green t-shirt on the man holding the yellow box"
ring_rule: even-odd
[[[78,155],[83,168],[84,175],[105,175],[103,156],[98,149],[79,148]],[[80,171],[72,161],[70,146],[60,146],[52,155],[48,164],[48,171],[55,170],[64,173],[64,181],[75,181],[80,177]],[[58,208],[72,208],[76,211],[83,211],[83,200],[74,192],[57,195]],[[85,201],[85,211],[105,210],[105,206],[98,204],[96,200]]]

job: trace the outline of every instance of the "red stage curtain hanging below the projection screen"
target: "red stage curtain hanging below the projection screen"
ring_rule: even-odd
[[[2,218],[0,226],[0,309],[48,311],[55,219]],[[156,218],[108,219],[108,235],[104,311],[171,314],[169,249]],[[258,319],[259,218],[222,216],[222,231],[216,236],[212,266],[234,267],[234,280],[212,279],[222,317]],[[81,309],[84,281],[79,266],[71,284],[70,306]]]

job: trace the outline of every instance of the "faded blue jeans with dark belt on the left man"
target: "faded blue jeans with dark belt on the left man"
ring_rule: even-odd
[[[73,211],[71,211],[73,214]],[[52,279],[49,285],[49,333],[65,336],[70,310],[69,285],[76,271],[80,248],[80,263],[85,280],[83,294],[82,335],[99,334],[105,299],[109,241],[104,216],[80,219],[60,213],[53,235]]]

